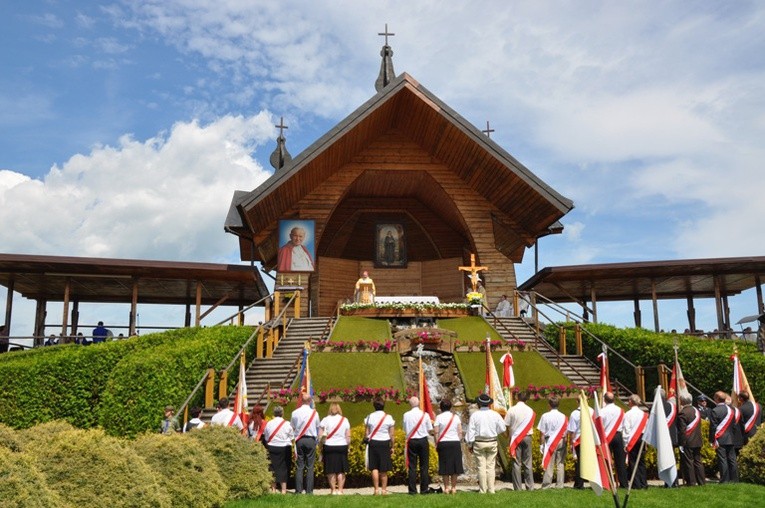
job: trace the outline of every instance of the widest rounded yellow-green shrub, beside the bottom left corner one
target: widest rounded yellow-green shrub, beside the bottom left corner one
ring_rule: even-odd
[[[57,432],[47,441],[30,441],[25,451],[35,459],[48,486],[73,506],[170,506],[146,462],[122,440],[101,430]]]

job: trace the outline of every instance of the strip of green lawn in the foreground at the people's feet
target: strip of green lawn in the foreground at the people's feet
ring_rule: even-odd
[[[370,480],[371,484],[371,480]],[[467,487],[463,487],[467,488]],[[625,491],[619,492],[619,504],[624,501]],[[633,491],[629,505],[635,508],[665,508],[667,506],[724,506],[726,508],[752,508],[762,506],[765,487],[744,483],[705,487],[665,489],[651,487],[648,490]],[[579,508],[582,506],[609,508],[614,506],[613,497],[604,492],[600,497],[591,490],[537,490],[534,492],[514,492],[500,490],[494,495],[482,495],[477,492],[459,492],[456,496],[434,494],[430,496],[408,496],[391,494],[389,496],[353,495],[345,496],[295,496],[269,495],[257,500],[229,502],[226,508],[246,508],[250,506],[374,506],[374,507],[416,507],[431,508],[440,506],[458,506],[476,504],[480,506],[523,506],[524,508]]]

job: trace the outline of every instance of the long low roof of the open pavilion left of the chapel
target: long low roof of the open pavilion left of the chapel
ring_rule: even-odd
[[[269,294],[257,270],[246,265],[0,254],[0,285],[25,298],[63,301],[193,304],[197,281],[204,305],[250,305]],[[225,298],[225,301],[221,302]]]

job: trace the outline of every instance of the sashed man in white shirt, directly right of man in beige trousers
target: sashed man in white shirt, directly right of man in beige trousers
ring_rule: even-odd
[[[505,415],[505,425],[510,435],[508,440],[510,456],[513,458],[513,489],[521,490],[522,476],[521,466],[525,470],[526,490],[534,490],[534,471],[531,467],[531,435],[534,430],[536,413],[526,401],[529,400],[529,392],[518,392],[518,402],[514,404]]]

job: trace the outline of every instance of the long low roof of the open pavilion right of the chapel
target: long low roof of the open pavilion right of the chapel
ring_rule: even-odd
[[[518,286],[555,302],[731,296],[765,280],[765,257],[682,259],[601,265],[553,266]]]

